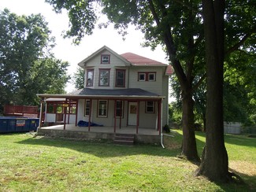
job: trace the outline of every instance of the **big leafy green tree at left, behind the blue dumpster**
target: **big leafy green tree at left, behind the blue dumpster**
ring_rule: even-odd
[[[54,38],[40,14],[0,12],[0,111],[2,105],[37,105],[35,94],[40,91],[64,92],[68,64],[54,58],[53,47]]]

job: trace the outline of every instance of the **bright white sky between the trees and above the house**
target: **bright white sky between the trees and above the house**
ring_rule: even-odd
[[[133,26],[128,28],[128,35],[125,37],[125,40],[118,34],[117,30],[113,29],[113,26],[102,29],[95,27],[93,35],[85,36],[80,45],[76,46],[72,44],[72,39],[63,39],[61,36],[62,31],[69,28],[69,17],[65,11],[61,14],[55,13],[52,6],[44,2],[44,0],[0,0],[0,10],[5,8],[17,15],[28,16],[32,13],[41,13],[45,17],[46,22],[48,22],[48,28],[50,28],[52,35],[56,38],[56,46],[53,50],[54,56],[61,59],[61,61],[69,62],[69,75],[76,72],[77,64],[80,61],[93,54],[102,46],[108,46],[117,54],[132,52],[168,64],[168,61],[165,59],[165,52],[161,46],[158,46],[154,51],[150,50],[150,47],[141,46],[141,43],[143,43],[143,33],[135,30]],[[104,19],[104,17],[102,18]],[[65,90],[70,92],[75,90],[75,87],[72,83],[68,83]]]

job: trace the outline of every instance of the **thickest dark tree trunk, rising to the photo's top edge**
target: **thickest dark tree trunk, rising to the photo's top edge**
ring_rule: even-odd
[[[223,63],[224,0],[203,0],[206,37],[207,102],[206,146],[198,175],[212,181],[228,180],[228,153],[224,146],[223,127]]]

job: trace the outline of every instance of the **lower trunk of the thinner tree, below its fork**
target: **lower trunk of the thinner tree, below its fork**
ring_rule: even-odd
[[[182,155],[189,161],[200,162],[195,142],[194,131],[194,101],[192,94],[182,93],[182,129],[183,129],[183,147]]]

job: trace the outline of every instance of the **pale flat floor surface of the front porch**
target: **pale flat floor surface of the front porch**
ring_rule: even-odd
[[[40,129],[46,130],[63,130],[64,125],[54,125],[49,127],[41,127]],[[65,131],[82,131],[82,132],[95,132],[95,133],[114,133],[113,127],[90,127],[90,131],[88,127],[76,127],[75,124],[66,124]],[[116,134],[129,134],[129,135],[159,135],[159,131],[155,130],[154,128],[145,128],[139,127],[138,134],[136,134],[136,127],[135,126],[128,126],[128,127],[117,127]]]

